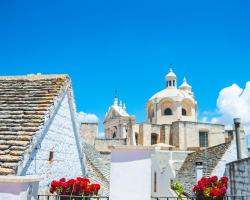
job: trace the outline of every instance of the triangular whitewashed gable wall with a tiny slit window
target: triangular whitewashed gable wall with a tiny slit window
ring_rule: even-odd
[[[44,138],[38,145],[37,153],[32,155],[28,167],[22,171],[22,175],[35,174],[42,177],[41,189],[47,188],[53,179],[83,175],[83,161],[78,148],[78,133],[74,130],[70,98],[68,93],[63,97],[55,117],[43,133]],[[52,162],[48,161],[50,151],[54,154]]]

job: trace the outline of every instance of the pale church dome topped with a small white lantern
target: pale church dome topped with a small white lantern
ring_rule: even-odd
[[[170,70],[166,88],[154,94],[147,102],[147,122],[171,124],[175,121],[197,121],[197,102],[192,87],[184,79],[177,87],[177,76]]]

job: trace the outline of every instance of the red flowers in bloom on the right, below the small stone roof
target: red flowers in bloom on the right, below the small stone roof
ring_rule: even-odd
[[[223,200],[228,188],[228,178],[217,176],[203,177],[194,186],[193,192],[197,200]]]

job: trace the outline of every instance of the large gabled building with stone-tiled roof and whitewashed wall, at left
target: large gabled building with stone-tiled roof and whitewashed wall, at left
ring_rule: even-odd
[[[85,175],[67,75],[0,77],[0,175],[53,179]]]

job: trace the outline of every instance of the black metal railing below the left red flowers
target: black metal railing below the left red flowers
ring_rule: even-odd
[[[109,200],[106,196],[38,195],[38,200]]]

